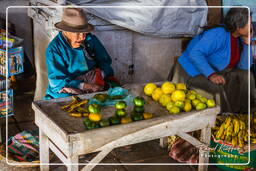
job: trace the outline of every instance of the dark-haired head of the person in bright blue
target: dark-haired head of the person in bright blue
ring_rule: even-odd
[[[237,36],[248,36],[249,27],[252,29],[251,19],[249,21],[249,15],[247,8],[231,8],[224,18],[226,29]]]

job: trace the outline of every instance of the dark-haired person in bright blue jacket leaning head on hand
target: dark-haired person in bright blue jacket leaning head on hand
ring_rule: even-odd
[[[249,50],[251,52],[248,49],[250,26],[246,8],[231,8],[225,16],[224,25],[206,29],[191,40],[178,59],[176,71],[180,75],[179,81],[213,94],[220,93],[223,111],[247,111],[248,70],[252,64],[252,55],[248,53]],[[254,81],[250,84],[252,101]],[[227,102],[231,109],[228,109]]]

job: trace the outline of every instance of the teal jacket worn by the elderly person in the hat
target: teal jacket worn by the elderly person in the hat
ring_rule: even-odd
[[[70,96],[68,93],[59,93],[59,91],[63,87],[78,88],[81,81],[75,78],[93,68],[99,67],[105,76],[114,75],[111,57],[97,37],[87,34],[84,44],[91,53],[90,58],[82,46],[71,48],[62,32],[59,32],[50,42],[46,49],[49,83],[44,99]]]

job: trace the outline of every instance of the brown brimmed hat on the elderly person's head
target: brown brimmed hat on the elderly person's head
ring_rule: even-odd
[[[66,8],[64,9],[61,22],[54,25],[61,31],[68,32],[91,32],[93,31],[93,25],[89,24],[85,13],[79,8]]]

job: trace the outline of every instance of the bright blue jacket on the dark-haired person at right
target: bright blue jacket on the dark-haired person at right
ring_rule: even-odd
[[[243,44],[240,61],[236,67],[248,70],[252,64],[252,50],[248,56],[248,45]],[[230,62],[230,32],[216,27],[194,37],[178,62],[191,77],[203,74],[205,77],[224,70]],[[250,64],[249,64],[250,59]]]

